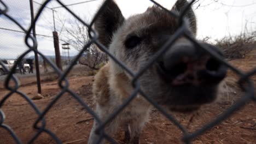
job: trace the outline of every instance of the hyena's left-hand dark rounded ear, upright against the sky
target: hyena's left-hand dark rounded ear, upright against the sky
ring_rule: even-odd
[[[124,16],[118,5],[113,0],[108,1],[95,21],[95,29],[98,32],[100,43],[108,48],[112,41],[113,33],[117,31],[124,21]]]

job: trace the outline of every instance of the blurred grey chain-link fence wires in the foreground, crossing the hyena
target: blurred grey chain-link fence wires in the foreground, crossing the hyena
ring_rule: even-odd
[[[83,21],[79,16],[75,15],[73,13],[72,10],[70,10],[68,7],[65,6],[65,4],[63,4],[61,1],[56,0],[57,3],[59,3],[63,8],[65,8],[68,13],[70,13],[71,15],[73,15],[75,17],[75,19],[77,19],[78,21],[80,21],[81,23],[83,23],[84,26],[88,27],[88,32],[90,35],[90,40],[89,42],[84,45],[83,49],[80,50],[79,54],[74,58],[74,61],[72,61],[71,65],[69,65],[69,67],[65,70],[65,71],[61,71],[60,69],[58,69],[56,67],[56,65],[50,61],[49,58],[45,57],[45,55],[43,55],[43,53],[41,53],[40,51],[38,51],[36,49],[37,45],[38,45],[38,41],[36,38],[34,38],[31,34],[32,28],[33,26],[36,25],[36,22],[38,21],[38,17],[42,14],[43,9],[45,9],[45,6],[52,0],[47,0],[42,4],[42,7],[40,7],[40,9],[38,10],[38,13],[34,19],[34,21],[32,22],[32,25],[26,29],[24,26],[21,25],[21,23],[19,23],[17,20],[15,20],[15,18],[9,13],[8,11],[8,5],[6,5],[3,1],[0,1],[0,15],[4,15],[9,21],[11,21],[14,25],[18,26],[20,29],[22,29],[22,31],[24,33],[26,33],[25,35],[25,44],[28,47],[28,49],[24,52],[22,52],[22,54],[19,56],[19,58],[17,59],[17,61],[21,61],[21,59],[27,55],[27,53],[29,52],[36,52],[38,53],[38,55],[42,56],[44,59],[46,59],[46,62],[49,63],[49,65],[54,69],[55,73],[57,73],[59,75],[59,82],[58,85],[61,88],[61,92],[58,93],[56,95],[56,97],[51,100],[51,102],[46,106],[46,108],[43,111],[40,111],[38,109],[38,107],[33,103],[33,101],[28,98],[28,96],[25,93],[22,93],[21,91],[18,90],[19,88],[19,80],[15,77],[14,73],[15,73],[15,68],[17,67],[17,64],[14,65],[14,67],[8,71],[8,75],[5,78],[4,81],[4,86],[6,89],[9,90],[9,93],[4,95],[4,97],[1,99],[0,101],[0,127],[7,130],[9,132],[9,134],[13,137],[13,139],[15,140],[16,143],[21,143],[21,140],[19,139],[19,137],[15,134],[15,131],[13,131],[8,125],[4,124],[4,120],[5,120],[5,115],[4,112],[1,110],[1,107],[4,105],[5,101],[11,97],[11,95],[13,95],[14,93],[19,94],[20,97],[24,98],[32,107],[32,109],[37,113],[38,117],[36,119],[36,122],[34,122],[33,124],[33,128],[34,130],[37,131],[37,133],[35,135],[33,135],[32,139],[30,141],[28,141],[28,143],[33,143],[40,134],[42,133],[46,133],[49,136],[51,136],[56,143],[62,143],[61,140],[50,130],[48,130],[46,128],[46,121],[45,121],[45,115],[46,113],[48,113],[48,111],[51,109],[51,107],[56,103],[56,101],[58,99],[60,99],[62,97],[63,94],[68,93],[70,95],[72,95],[72,97],[77,100],[79,102],[80,105],[82,105],[84,107],[85,110],[87,110],[95,119],[95,121],[97,121],[100,126],[97,128],[96,133],[98,133],[100,135],[100,140],[98,140],[98,143],[100,143],[103,139],[107,139],[108,141],[110,141],[111,143],[117,143],[115,142],[115,140],[109,136],[107,133],[105,133],[104,131],[104,127],[106,127],[106,125],[112,121],[117,115],[119,115],[119,113],[127,106],[129,105],[129,103],[131,103],[132,99],[134,99],[136,97],[136,95],[139,93],[141,94],[145,99],[147,99],[149,101],[149,103],[151,103],[156,109],[158,109],[166,118],[168,118],[172,123],[174,123],[174,125],[176,125],[182,132],[183,132],[183,141],[185,143],[191,143],[193,141],[193,139],[195,139],[197,136],[202,135],[203,133],[205,133],[207,130],[210,130],[211,128],[213,128],[215,125],[217,125],[218,123],[224,121],[224,119],[228,118],[230,115],[232,115],[234,112],[236,112],[238,109],[241,109],[242,106],[246,105],[248,103],[248,101],[251,100],[256,100],[256,97],[254,95],[254,83],[253,81],[250,79],[250,77],[252,77],[253,75],[256,74],[256,68],[252,71],[249,71],[248,73],[245,73],[241,70],[238,70],[237,68],[233,67],[231,64],[229,64],[228,62],[224,61],[216,52],[208,49],[208,47],[201,45],[200,43],[198,43],[187,31],[185,25],[184,25],[184,19],[183,16],[185,15],[186,11],[188,10],[189,6],[191,4],[193,4],[194,1],[189,2],[189,5],[187,5],[187,7],[185,7],[185,9],[182,11],[181,14],[176,14],[176,13],[172,13],[171,11],[165,9],[164,7],[162,7],[160,4],[158,4],[157,2],[152,1],[155,5],[157,5],[158,7],[161,7],[162,9],[166,10],[170,15],[176,17],[176,19],[179,20],[179,28],[177,29],[177,31],[172,35],[172,37],[170,39],[168,39],[166,41],[166,43],[164,44],[164,46],[161,47],[161,49],[155,53],[155,55],[152,57],[152,59],[150,59],[150,61],[144,65],[143,68],[141,68],[141,70],[138,71],[138,73],[133,73],[133,71],[131,71],[126,65],[124,65],[122,62],[120,62],[117,58],[115,58],[107,49],[106,47],[104,47],[99,41],[98,41],[98,35],[95,32],[95,30],[92,28],[92,26],[94,25],[95,20],[97,19],[98,15],[102,13],[102,10],[104,9],[104,7],[106,7],[106,4],[109,2],[109,0],[106,0],[101,8],[97,11],[97,13],[95,14],[94,18],[92,19],[92,21],[90,23]],[[150,99],[147,94],[145,94],[140,86],[139,86],[139,82],[138,79],[139,77],[144,73],[144,71],[146,71],[150,65],[152,65],[156,59],[158,57],[160,57],[167,49],[168,47],[170,47],[174,41],[178,38],[181,37],[181,35],[183,35],[184,37],[186,37],[188,40],[190,40],[192,43],[196,44],[199,46],[200,49],[204,49],[205,51],[207,51],[211,56],[215,57],[216,59],[218,59],[218,61],[222,62],[224,65],[226,65],[229,69],[231,69],[232,71],[234,71],[238,76],[240,76],[240,79],[237,81],[238,85],[241,87],[241,89],[243,89],[245,91],[245,95],[243,97],[241,97],[234,105],[232,105],[228,110],[224,111],[221,115],[217,116],[215,119],[213,119],[210,123],[206,124],[205,126],[203,126],[202,128],[200,128],[199,130],[194,131],[193,133],[189,133],[187,129],[185,129],[177,120],[176,118],[174,118],[172,115],[168,114],[167,111],[165,111],[164,109],[162,109],[162,107],[160,107],[154,100]],[[29,43],[28,41],[32,41],[33,43]],[[80,98],[75,92],[73,92],[70,88],[69,88],[69,82],[66,78],[66,76],[69,74],[69,72],[72,70],[72,68],[74,67],[75,63],[78,61],[78,59],[83,55],[83,52],[88,49],[88,47],[90,47],[91,45],[97,45],[103,52],[107,53],[107,55],[113,59],[114,62],[116,62],[117,64],[120,65],[120,67],[122,67],[123,69],[125,69],[127,71],[127,73],[129,73],[132,77],[132,85],[134,87],[134,91],[132,92],[132,94],[130,95],[130,97],[125,100],[125,102],[119,107],[119,109],[117,109],[114,113],[112,113],[111,115],[109,115],[109,117],[107,118],[106,121],[102,121],[102,119],[98,118],[98,116],[96,115],[96,113],[88,106],[88,104],[86,104],[82,98]],[[0,64],[2,65],[2,67],[5,70],[8,70],[7,68],[5,68],[4,64],[2,62],[0,62]],[[11,86],[9,83],[13,81],[15,83],[14,86]]]

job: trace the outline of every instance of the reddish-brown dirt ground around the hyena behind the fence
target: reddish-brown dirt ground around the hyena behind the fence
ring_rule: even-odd
[[[245,59],[232,61],[236,67],[249,70],[255,67],[255,55]],[[229,73],[230,80],[236,80],[233,73]],[[57,85],[57,77],[54,75],[42,76],[42,95],[43,99],[33,100],[41,111],[55,98],[60,92]],[[91,86],[93,76],[84,76],[73,74],[68,77],[69,87],[77,93],[90,107],[94,108],[92,103]],[[256,83],[255,77],[253,77]],[[19,91],[32,98],[37,93],[37,86],[34,77],[21,78],[21,87]],[[232,84],[232,83],[231,83]],[[229,92],[222,100],[207,106],[194,116],[193,121],[190,118],[193,114],[172,113],[178,121],[189,131],[200,129],[203,125],[210,122],[214,117],[220,115],[225,109],[228,109],[237,99],[243,96],[243,93],[235,87],[228,85]],[[0,100],[8,91],[0,86]],[[13,94],[5,101],[2,110],[5,113],[5,124],[9,125],[19,136],[22,143],[27,143],[31,137],[36,134],[32,125],[37,119],[37,115],[32,107],[18,94]],[[63,143],[86,143],[92,127],[92,116],[80,105],[71,95],[65,93],[57,100],[46,114],[46,128],[56,134]],[[120,132],[115,139],[122,143],[124,133]],[[168,121],[157,110],[153,110],[150,119],[143,129],[140,142],[143,144],[153,143],[183,143],[182,132],[173,123]],[[14,143],[10,134],[3,128],[0,128],[0,143]],[[55,143],[47,134],[41,134],[34,143]],[[207,131],[205,134],[196,137],[193,143],[256,143],[256,103],[250,102],[241,110],[236,111],[234,115],[218,124],[216,127]]]

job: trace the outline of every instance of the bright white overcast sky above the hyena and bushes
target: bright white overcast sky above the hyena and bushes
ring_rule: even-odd
[[[88,0],[62,0],[63,3],[73,4],[85,2]],[[129,17],[132,14],[143,13],[152,2],[148,0],[116,0],[123,15]],[[28,28],[30,26],[30,4],[28,0],[4,0],[9,7],[8,14],[13,16],[15,20],[22,26]],[[34,2],[43,3],[43,0],[34,0]],[[69,6],[75,14],[90,22],[96,13],[98,7],[102,4],[102,0],[92,1],[83,4]],[[164,7],[171,9],[175,1],[159,0],[157,1]],[[201,3],[201,7],[196,9]],[[197,16],[198,38],[211,37],[212,39],[220,39],[227,35],[237,35],[245,29],[247,31],[255,31],[256,29],[256,0],[220,0],[214,3],[214,0],[201,0],[194,5]],[[38,10],[39,4],[34,4],[34,11]],[[55,1],[50,2],[47,7],[59,7]],[[2,8],[2,5],[0,5]],[[63,27],[72,27],[74,18],[63,8],[55,9],[56,29],[60,34],[60,39],[65,39],[65,31]],[[60,22],[60,20],[62,22]],[[63,25],[65,21],[65,25]],[[24,34],[11,32],[1,28],[14,29],[21,31],[13,22],[9,21],[3,15],[0,15],[0,58],[16,58],[27,49],[24,44]],[[54,55],[53,45],[53,14],[50,9],[45,8],[40,16],[36,26],[37,34],[48,35],[49,37],[37,36],[38,50],[45,55]],[[60,44],[63,41],[60,40]],[[60,45],[61,48],[61,45]],[[71,46],[71,55],[75,55],[77,50]],[[62,51],[61,51],[62,54]],[[31,55],[31,54],[30,54]]]

